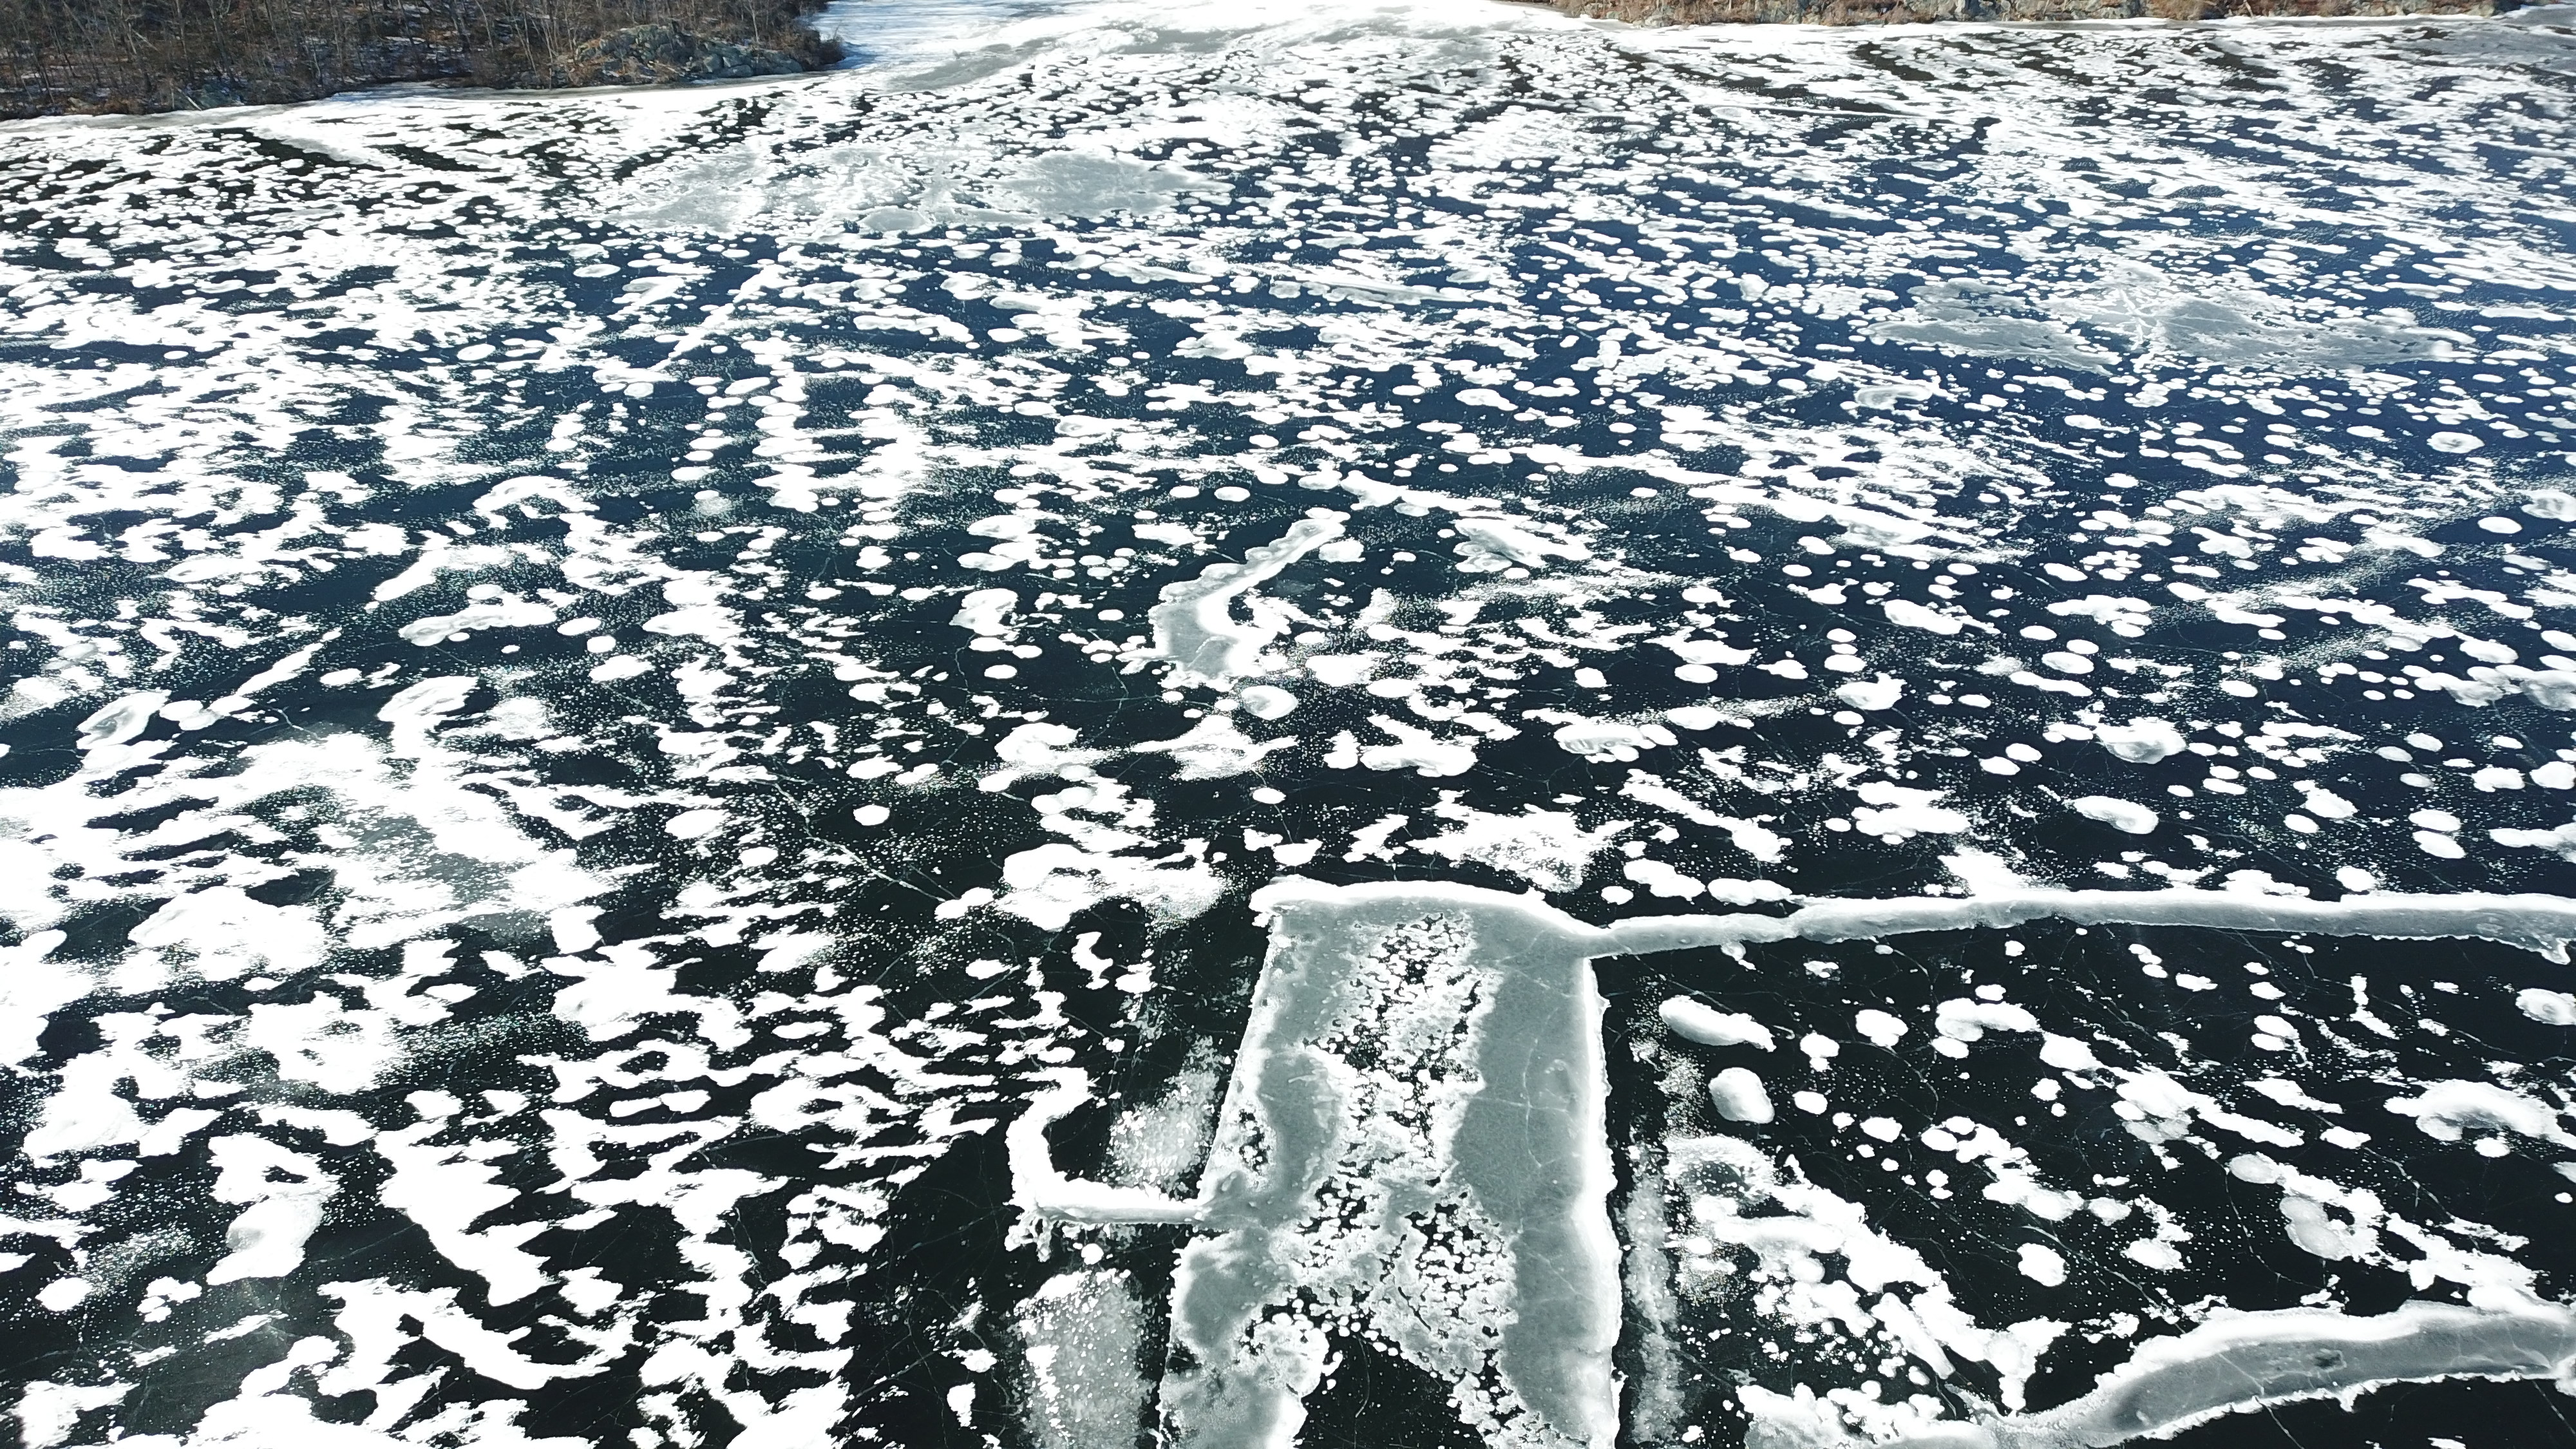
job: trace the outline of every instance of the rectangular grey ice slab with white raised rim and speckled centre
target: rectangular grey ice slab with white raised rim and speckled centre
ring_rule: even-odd
[[[1486,1444],[1607,1444],[1600,936],[1435,884],[1255,905],[1270,959],[1175,1284],[1175,1441],[1291,1444],[1340,1333],[1453,1385]]]

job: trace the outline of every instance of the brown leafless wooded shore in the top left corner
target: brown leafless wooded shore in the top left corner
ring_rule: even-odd
[[[814,70],[819,0],[0,0],[0,116]]]

